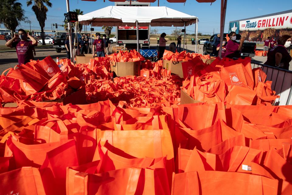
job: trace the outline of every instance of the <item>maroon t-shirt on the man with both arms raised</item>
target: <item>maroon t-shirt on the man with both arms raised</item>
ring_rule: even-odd
[[[32,41],[14,41],[12,47],[16,48],[18,64],[25,64],[33,60],[33,42]]]

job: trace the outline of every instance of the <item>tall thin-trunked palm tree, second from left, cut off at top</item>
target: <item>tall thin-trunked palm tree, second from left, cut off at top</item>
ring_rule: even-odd
[[[46,45],[45,33],[43,32],[43,29],[45,27],[45,21],[47,19],[47,12],[48,12],[47,6],[52,7],[52,3],[50,2],[50,0],[27,0],[26,5],[30,6],[33,4],[33,2],[34,2],[34,5],[31,9],[36,14],[37,21],[39,21],[40,29],[41,29],[40,36],[42,37],[43,45]],[[47,6],[44,4],[46,4]]]

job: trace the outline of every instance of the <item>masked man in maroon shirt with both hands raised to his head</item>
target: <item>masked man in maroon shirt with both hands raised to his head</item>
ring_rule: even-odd
[[[27,38],[30,38],[31,41],[28,41]],[[19,29],[18,34],[14,34],[14,37],[7,41],[5,45],[10,48],[16,48],[18,64],[21,66],[21,64],[34,59],[33,47],[37,45],[37,41],[29,33],[26,33],[25,30]]]

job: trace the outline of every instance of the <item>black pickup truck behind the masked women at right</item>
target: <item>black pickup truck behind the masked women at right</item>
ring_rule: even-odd
[[[219,34],[219,33],[218,33]],[[224,33],[224,37],[228,36],[228,33]],[[236,36],[240,37],[240,36]],[[215,39],[217,38],[217,34],[214,34],[209,41],[206,41],[203,46],[203,54],[210,54],[213,51],[213,45],[215,43]],[[239,43],[239,40],[236,40]],[[242,58],[245,57],[254,57],[255,56],[255,49],[256,49],[256,44],[251,43],[251,42],[243,42],[242,44],[242,49],[240,51],[240,56]]]

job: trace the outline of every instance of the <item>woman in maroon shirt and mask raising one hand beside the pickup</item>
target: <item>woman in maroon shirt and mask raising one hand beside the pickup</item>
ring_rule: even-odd
[[[245,37],[242,37],[240,39],[240,44],[238,44],[235,41],[236,40],[235,32],[232,31],[231,33],[229,33],[228,37],[230,38],[230,40],[227,42],[225,57],[240,58],[239,51],[242,49],[242,44],[243,44],[243,41],[245,40]]]

